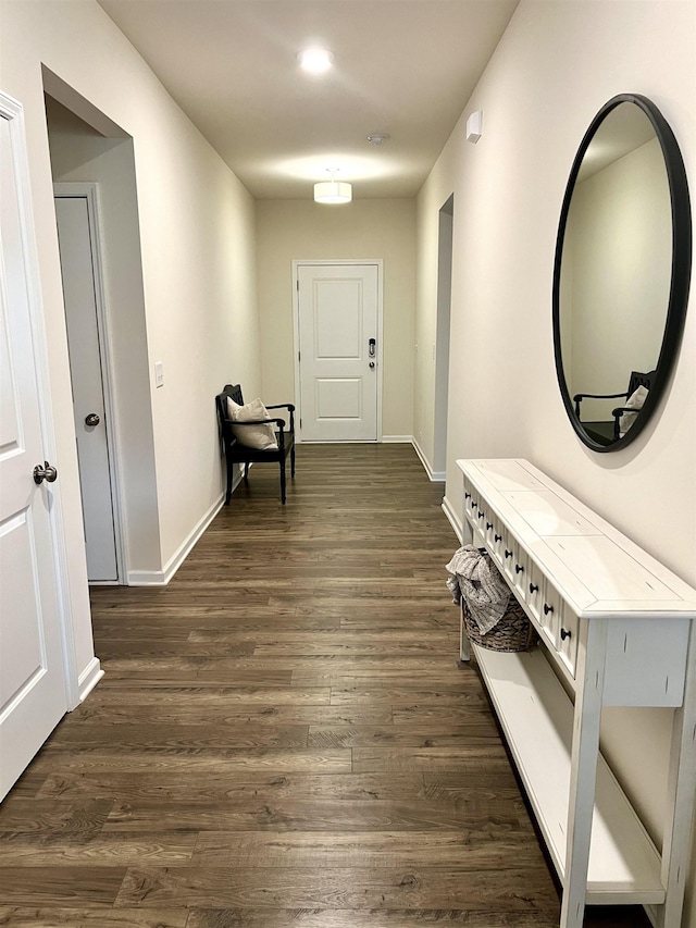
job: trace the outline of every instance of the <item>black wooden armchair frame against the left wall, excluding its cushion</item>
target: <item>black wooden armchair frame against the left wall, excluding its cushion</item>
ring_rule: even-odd
[[[233,422],[227,418],[227,397],[238,406],[244,406],[241,387],[239,384],[227,384],[222,393],[215,397],[217,417],[225,447],[225,460],[227,462],[227,493],[225,506],[229,505],[232,498],[232,478],[234,465],[244,465],[245,483],[249,480],[250,463],[277,463],[281,467],[281,503],[285,505],[285,461],[290,456],[290,477],[295,477],[295,406],[291,403],[281,403],[276,406],[268,406],[266,409],[287,409],[290,424],[286,428],[285,419],[258,419],[253,422]],[[232,426],[245,429],[251,425],[272,424],[276,428],[275,436],[277,449],[250,448],[244,445],[233,434]]]

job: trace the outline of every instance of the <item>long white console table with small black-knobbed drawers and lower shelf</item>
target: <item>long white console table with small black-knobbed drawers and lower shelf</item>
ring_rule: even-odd
[[[527,461],[457,463],[463,541],[488,549],[543,643],[471,647],[563,887],[561,928],[581,928],[592,903],[643,904],[654,925],[679,928],[696,791],[696,592]],[[599,753],[602,706],[675,708],[661,852]]]

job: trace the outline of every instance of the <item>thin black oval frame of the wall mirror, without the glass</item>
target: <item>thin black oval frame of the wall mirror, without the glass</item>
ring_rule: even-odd
[[[566,225],[568,223],[568,212],[570,209],[571,198],[575,188],[575,181],[580,172],[583,158],[589,144],[592,143],[597,129],[611,113],[621,103],[634,103],[639,107],[647,115],[652,124],[655,134],[660,143],[662,157],[664,158],[664,166],[667,170],[667,178],[670,190],[671,215],[672,215],[672,270],[670,277],[670,294],[667,306],[667,319],[664,323],[664,334],[660,346],[655,368],[655,381],[643,409],[638,412],[633,425],[629,429],[622,438],[609,445],[601,445],[596,442],[583,428],[580,419],[575,416],[575,410],[568,389],[566,374],[563,371],[563,359],[561,355],[561,333],[560,333],[560,277],[561,277],[561,260],[563,255],[563,239],[566,237]],[[688,304],[688,287],[691,282],[692,270],[692,212],[688,197],[688,184],[686,181],[686,171],[684,161],[680,151],[679,145],[674,137],[674,133],[670,128],[669,123],[658,110],[658,108],[647,97],[639,94],[620,94],[612,97],[599,110],[597,115],[592,121],[589,128],[585,133],[583,140],[577,149],[577,154],[571,168],[570,177],[566,187],[566,195],[561,207],[561,216],[558,225],[558,236],[556,239],[556,256],[554,260],[554,292],[552,292],[552,313],[554,313],[554,355],[556,358],[556,374],[560,387],[563,405],[568,413],[573,429],[577,433],[580,440],[592,448],[593,451],[618,451],[625,448],[633,442],[643,431],[648,420],[652,416],[660,401],[670,374],[674,368],[682,333],[684,331],[684,322],[686,319],[686,307]],[[627,372],[626,372],[627,375]]]

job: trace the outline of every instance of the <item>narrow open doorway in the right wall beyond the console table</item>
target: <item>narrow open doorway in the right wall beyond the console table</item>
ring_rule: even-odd
[[[455,195],[452,194],[439,211],[433,480],[445,480],[447,469],[447,400],[449,391],[449,327],[452,298],[453,220]]]

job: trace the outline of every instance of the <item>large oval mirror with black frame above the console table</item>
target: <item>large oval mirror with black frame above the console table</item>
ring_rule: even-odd
[[[646,97],[613,97],[575,156],[554,265],[556,372],[573,428],[595,451],[630,444],[664,392],[691,256],[676,139]]]

